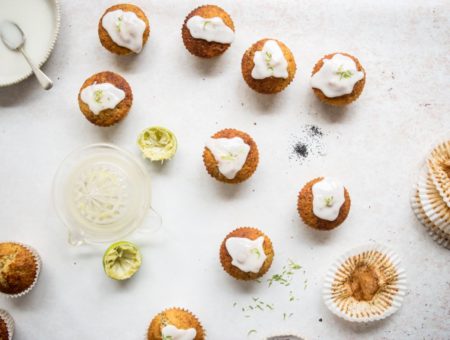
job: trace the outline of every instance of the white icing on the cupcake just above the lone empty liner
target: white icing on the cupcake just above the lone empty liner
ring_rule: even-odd
[[[345,202],[344,186],[332,178],[324,178],[312,186],[313,213],[317,217],[334,221]]]

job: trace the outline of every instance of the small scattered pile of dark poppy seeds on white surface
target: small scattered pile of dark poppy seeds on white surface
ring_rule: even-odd
[[[294,136],[292,153],[289,159],[303,162],[310,156],[322,156],[325,153],[322,137],[324,132],[316,125],[305,125],[299,136]]]

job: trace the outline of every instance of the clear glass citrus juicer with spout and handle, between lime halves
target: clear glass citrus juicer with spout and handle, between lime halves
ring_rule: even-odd
[[[99,244],[134,231],[156,231],[150,177],[131,153],[112,144],[92,144],[70,153],[53,182],[56,211],[69,229],[69,243]]]

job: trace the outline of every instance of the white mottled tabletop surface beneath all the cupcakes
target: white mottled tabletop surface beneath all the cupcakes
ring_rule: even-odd
[[[110,55],[97,22],[112,3],[63,1],[61,35],[45,67],[51,91],[33,79],[0,90],[0,237],[32,245],[43,260],[30,294],[0,299],[16,320],[16,340],[142,339],[154,314],[170,306],[191,309],[214,340],[246,339],[250,329],[258,331],[251,339],[283,329],[308,339],[449,337],[449,253],[408,201],[429,145],[450,127],[448,1],[217,1],[237,34],[214,61],[191,56],[181,42],[195,1],[136,1],[149,16],[150,40],[137,57]],[[240,75],[244,50],[264,37],[285,42],[298,64],[291,86],[273,97],[252,92]],[[334,51],[359,57],[368,75],[347,109],[321,105],[308,86],[314,63]],[[102,129],[83,118],[76,96],[88,76],[108,69],[128,79],[135,99],[126,120]],[[327,132],[327,154],[300,163],[289,157],[304,124]],[[143,267],[113,282],[102,272],[104,248],[68,246],[50,202],[52,177],[68,152],[89,143],[137,155],[135,140],[149,125],[167,126],[179,140],[172,161],[148,165],[164,233],[138,239]],[[247,131],[260,149],[257,172],[239,186],[211,179],[201,160],[205,140],[225,127]],[[319,175],[340,178],[352,197],[348,220],[330,233],[307,229],[296,212],[298,190]],[[271,237],[269,274],[288,257],[304,266],[309,284],[293,287],[298,301],[288,301],[289,289],[236,282],[222,271],[219,245],[241,225]],[[403,258],[409,293],[389,319],[349,324],[324,305],[323,278],[341,253],[373,241]],[[275,311],[245,318],[233,308],[252,296]],[[294,315],[283,321],[285,311]]]

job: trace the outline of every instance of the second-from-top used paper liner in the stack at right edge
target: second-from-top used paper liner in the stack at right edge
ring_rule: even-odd
[[[430,221],[444,233],[450,234],[450,208],[443,201],[428,174],[421,174],[417,190],[422,208]]]

